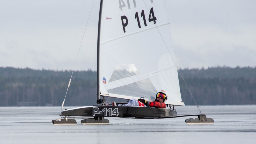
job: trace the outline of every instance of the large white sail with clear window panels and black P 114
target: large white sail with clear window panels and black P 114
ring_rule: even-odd
[[[184,106],[163,1],[103,0],[99,59],[101,95]]]

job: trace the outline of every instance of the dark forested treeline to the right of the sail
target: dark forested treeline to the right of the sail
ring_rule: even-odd
[[[180,70],[198,105],[256,104],[256,68],[212,67]],[[180,73],[182,100],[195,104]]]

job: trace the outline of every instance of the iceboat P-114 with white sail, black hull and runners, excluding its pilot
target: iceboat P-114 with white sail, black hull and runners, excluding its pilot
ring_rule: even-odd
[[[112,106],[105,97],[154,101],[165,90],[167,108]],[[101,0],[97,45],[97,103],[63,110],[54,125],[107,124],[106,117],[171,118],[181,99],[170,21],[163,0]]]

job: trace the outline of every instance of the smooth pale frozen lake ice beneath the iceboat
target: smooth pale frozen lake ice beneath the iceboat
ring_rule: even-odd
[[[73,107],[65,107],[67,109]],[[213,125],[185,119],[109,117],[109,125],[55,126],[60,107],[0,107],[0,143],[255,143],[256,105],[200,106]],[[196,106],[176,107],[178,115],[198,114]]]

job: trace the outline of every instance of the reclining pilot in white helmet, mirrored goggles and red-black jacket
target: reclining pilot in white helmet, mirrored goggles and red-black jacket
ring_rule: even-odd
[[[166,91],[161,90],[157,93],[154,102],[146,101],[145,99],[130,99],[127,104],[122,104],[121,106],[150,106],[157,108],[166,108],[165,101],[167,100]],[[113,102],[113,106],[116,106],[116,103]]]

